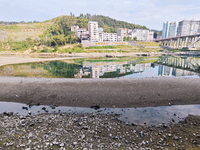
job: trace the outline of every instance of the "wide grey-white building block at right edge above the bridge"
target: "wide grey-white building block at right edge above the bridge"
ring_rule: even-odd
[[[198,33],[200,21],[183,20],[178,23],[178,36],[193,35]]]

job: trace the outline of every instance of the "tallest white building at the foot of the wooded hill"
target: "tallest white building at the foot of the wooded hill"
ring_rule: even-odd
[[[98,34],[98,22],[96,21],[89,21],[88,22],[88,31],[90,35],[91,42],[98,42],[99,34]]]

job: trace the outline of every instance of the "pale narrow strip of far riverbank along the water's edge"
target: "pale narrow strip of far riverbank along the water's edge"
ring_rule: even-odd
[[[76,58],[92,57],[129,57],[129,56],[200,56],[200,52],[143,52],[143,53],[41,53],[23,54],[10,53],[0,54],[0,66],[8,64],[54,61]],[[49,58],[48,58],[49,57]]]

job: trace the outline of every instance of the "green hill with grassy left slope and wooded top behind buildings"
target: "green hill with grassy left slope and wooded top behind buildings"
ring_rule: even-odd
[[[71,32],[72,25],[79,25],[80,28],[87,28],[88,21],[98,21],[99,27],[104,32],[117,32],[117,28],[141,28],[145,26],[118,21],[102,15],[81,14],[78,17],[59,16],[51,20],[35,23],[0,24],[0,50],[26,50],[34,46],[60,46],[66,43],[77,43]]]

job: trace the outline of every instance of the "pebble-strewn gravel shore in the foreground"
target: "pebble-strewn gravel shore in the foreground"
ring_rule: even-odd
[[[198,149],[200,117],[166,126],[128,125],[118,114],[0,114],[0,149]]]

